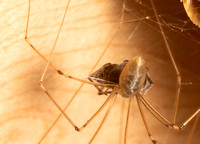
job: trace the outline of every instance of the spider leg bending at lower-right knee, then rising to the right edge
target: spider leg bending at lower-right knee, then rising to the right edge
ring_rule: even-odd
[[[158,111],[156,111],[153,106],[141,95],[138,94],[140,96],[140,98],[142,99],[142,101],[147,104],[147,106],[154,112],[156,113],[157,116],[159,116],[163,121],[165,121],[167,124],[165,126],[167,126],[168,128],[172,128],[175,130],[183,130],[185,128],[185,126],[195,117],[200,113],[200,108],[194,112],[188,119],[186,119],[183,124],[181,124],[180,126],[175,125],[171,122],[169,122],[163,115],[161,115]],[[153,114],[155,116],[155,114]]]

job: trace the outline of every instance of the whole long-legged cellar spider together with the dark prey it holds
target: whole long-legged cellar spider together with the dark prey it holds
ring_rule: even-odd
[[[112,106],[113,103],[115,102],[116,96],[117,94],[121,94],[122,97],[128,98],[129,99],[129,105],[128,105],[128,112],[127,112],[127,117],[126,117],[126,126],[125,126],[125,133],[124,133],[124,143],[126,143],[126,137],[127,137],[127,128],[128,128],[128,123],[129,123],[129,115],[130,115],[130,108],[132,105],[132,101],[133,98],[136,97],[137,103],[138,103],[138,107],[141,113],[141,116],[143,118],[144,121],[144,125],[146,127],[147,133],[149,135],[150,140],[152,141],[152,143],[156,144],[158,143],[151,135],[151,132],[148,128],[147,125],[147,121],[143,112],[143,109],[141,107],[141,105],[143,104],[149,111],[150,113],[152,113],[153,116],[155,116],[155,118],[157,118],[164,126],[174,129],[174,130],[183,130],[184,127],[195,117],[199,114],[200,109],[198,109],[194,114],[192,114],[187,120],[185,120],[183,122],[182,125],[178,126],[176,125],[176,117],[177,117],[177,110],[178,110],[178,102],[179,102],[179,96],[180,96],[180,88],[181,88],[181,75],[179,72],[179,69],[176,65],[176,62],[174,60],[174,57],[172,55],[172,52],[170,50],[170,47],[168,45],[167,39],[165,37],[165,34],[163,32],[162,26],[159,25],[160,31],[162,33],[163,39],[165,41],[166,44],[166,48],[168,50],[170,59],[172,61],[172,64],[174,66],[174,69],[176,71],[176,75],[177,75],[177,92],[176,92],[176,107],[175,107],[175,112],[174,112],[174,118],[173,118],[173,122],[168,121],[162,114],[160,114],[158,111],[155,110],[155,108],[153,108],[153,106],[146,100],[146,98],[144,97],[144,94],[147,92],[148,89],[150,89],[153,85],[153,82],[148,74],[148,68],[145,65],[145,62],[143,60],[143,58],[141,56],[136,56],[133,59],[129,60],[129,61],[124,61],[121,64],[111,64],[108,63],[106,65],[104,65],[103,67],[101,67],[99,70],[97,70],[96,72],[90,74],[90,76],[88,77],[89,81],[87,80],[83,80],[71,75],[68,75],[66,73],[64,73],[63,71],[61,71],[59,68],[57,68],[55,65],[53,65],[50,60],[51,60],[51,56],[54,53],[55,47],[56,47],[56,43],[57,40],[59,39],[59,35],[63,26],[63,22],[69,7],[69,3],[70,1],[68,1],[65,12],[64,12],[64,16],[57,34],[57,37],[55,39],[53,48],[51,49],[50,55],[48,58],[44,57],[29,41],[28,39],[28,26],[29,26],[29,16],[30,16],[30,6],[31,6],[31,0],[29,0],[29,8],[28,8],[28,18],[27,18],[27,26],[26,26],[26,32],[25,32],[25,40],[26,42],[30,45],[30,47],[42,58],[44,59],[47,64],[46,67],[44,69],[44,72],[41,76],[41,80],[40,80],[40,87],[42,88],[42,90],[48,95],[48,97],[52,100],[52,102],[57,106],[57,108],[60,110],[60,112],[67,118],[67,120],[71,123],[71,125],[75,128],[75,130],[77,131],[82,131],[97,115],[98,113],[108,104],[109,107],[107,109],[107,112],[101,122],[101,124],[99,125],[98,129],[96,130],[95,134],[93,135],[93,137],[91,138],[89,143],[92,143],[94,138],[96,137],[96,135],[98,134],[99,130],[101,129],[103,123],[105,122]],[[153,10],[155,12],[156,15],[156,19],[158,21],[158,23],[160,23],[160,20],[158,18],[158,14],[156,12],[155,6],[153,1],[151,0],[152,3],[152,7]],[[101,54],[100,58],[98,59],[97,63],[95,64],[95,66],[93,67],[93,69],[96,67],[96,65],[98,64],[98,62],[100,61],[100,59],[102,58],[103,54],[106,52],[106,50],[109,48],[109,46],[111,45],[113,39],[116,37],[116,35],[118,34],[123,19],[124,19],[124,8],[125,8],[125,0],[123,2],[123,8],[122,8],[122,16],[121,16],[121,20],[120,20],[120,24],[115,32],[115,34],[112,36],[111,40],[109,41],[108,45],[106,46],[106,48],[104,49],[103,53]],[[75,122],[64,112],[67,107],[65,107],[64,109],[62,109],[57,102],[53,99],[53,97],[51,96],[51,94],[48,92],[48,90],[44,87],[43,85],[43,80],[44,77],[46,75],[46,71],[48,67],[52,67],[55,71],[57,71],[57,73],[61,76],[64,76],[66,78],[69,79],[73,79],[76,81],[80,81],[83,83],[87,83],[87,84],[91,84],[94,85],[97,90],[98,90],[98,94],[99,95],[109,95],[106,99],[106,101],[103,103],[103,105],[98,109],[98,111],[91,117],[89,118],[89,120],[81,127],[78,127]],[[93,71],[92,69],[92,71]],[[115,74],[115,75],[113,75]],[[104,75],[104,76],[102,76]],[[115,76],[115,77],[114,77]],[[61,116],[61,115],[60,115]],[[59,117],[60,117],[59,116]],[[58,117],[58,118],[59,118]],[[56,121],[55,121],[56,122]],[[54,122],[54,123],[55,123]],[[53,124],[54,125],[54,124]],[[49,130],[53,127],[53,125],[49,128]],[[49,131],[48,130],[48,131]],[[47,133],[48,133],[47,131]],[[46,134],[45,134],[46,135]],[[43,140],[43,138],[45,137],[45,135],[41,138],[41,140],[39,141],[39,143]]]

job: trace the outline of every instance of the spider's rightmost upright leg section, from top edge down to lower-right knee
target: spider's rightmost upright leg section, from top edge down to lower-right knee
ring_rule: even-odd
[[[181,90],[181,74],[180,74],[179,69],[177,67],[177,64],[176,64],[176,62],[174,60],[174,56],[173,56],[173,54],[171,52],[171,49],[169,47],[169,44],[167,42],[167,39],[166,39],[165,33],[163,31],[163,28],[160,25],[161,22],[160,22],[160,19],[158,17],[158,14],[157,14],[157,11],[156,11],[156,8],[155,8],[153,0],[151,0],[151,5],[152,5],[153,11],[155,13],[156,19],[158,21],[158,24],[159,24],[159,27],[160,27],[160,31],[161,31],[161,34],[163,36],[163,39],[164,39],[167,51],[169,53],[170,59],[171,59],[171,61],[173,63],[174,69],[176,71],[176,76],[177,76],[177,90],[176,90],[176,102],[175,102],[175,111],[174,111],[174,118],[173,118],[173,123],[176,123],[176,117],[177,117],[177,111],[178,111],[178,105],[179,105],[179,99],[180,99],[180,90]]]

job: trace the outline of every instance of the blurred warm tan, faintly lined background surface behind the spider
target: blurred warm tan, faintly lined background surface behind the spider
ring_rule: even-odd
[[[139,5],[127,1],[125,20],[109,50],[98,67],[107,62],[120,63],[137,54],[147,62],[154,87],[147,99],[169,120],[172,120],[176,90],[176,73],[166,51],[162,35],[150,2]],[[143,2],[143,1],[141,1]],[[161,16],[170,48],[182,74],[183,85],[177,122],[180,124],[200,107],[200,30],[186,16],[179,0],[155,2]],[[33,1],[31,4],[29,38],[40,52],[48,56],[59,28],[66,1]],[[66,73],[86,78],[98,57],[119,25],[122,1],[94,0],[70,3],[56,52],[52,62]],[[56,117],[59,110],[40,89],[39,80],[45,62],[24,40],[28,1],[0,2],[0,143],[35,144]],[[129,12],[127,12],[129,11]],[[150,16],[150,20],[144,20]],[[129,38],[130,37],[130,38]],[[64,107],[81,85],[64,79],[52,69],[47,71],[45,86]],[[103,103],[96,89],[87,84],[66,111],[82,125]],[[125,102],[124,102],[125,101]],[[127,101],[118,97],[110,116],[96,137],[95,144],[122,144]],[[86,144],[92,137],[104,112],[83,132],[76,132],[66,118],[56,123],[42,143]],[[161,144],[187,143],[191,124],[183,132],[162,126],[146,110],[153,136]],[[192,137],[192,144],[200,141],[200,122]],[[128,132],[128,143],[150,144],[136,101],[134,101]]]

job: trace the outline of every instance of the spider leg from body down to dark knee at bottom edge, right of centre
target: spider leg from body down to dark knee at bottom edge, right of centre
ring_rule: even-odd
[[[137,99],[137,103],[138,103],[138,107],[139,107],[139,110],[140,110],[142,119],[143,119],[143,121],[144,121],[144,125],[145,125],[146,130],[147,130],[147,133],[148,133],[148,135],[149,135],[149,138],[151,139],[152,143],[158,144],[158,142],[157,142],[157,141],[152,137],[152,135],[151,135],[151,132],[150,132],[149,127],[148,127],[148,125],[147,125],[146,118],[145,118],[145,116],[144,116],[144,111],[143,111],[142,106],[141,106],[141,100],[140,100],[140,98],[139,98],[138,95],[136,95],[136,99]]]

